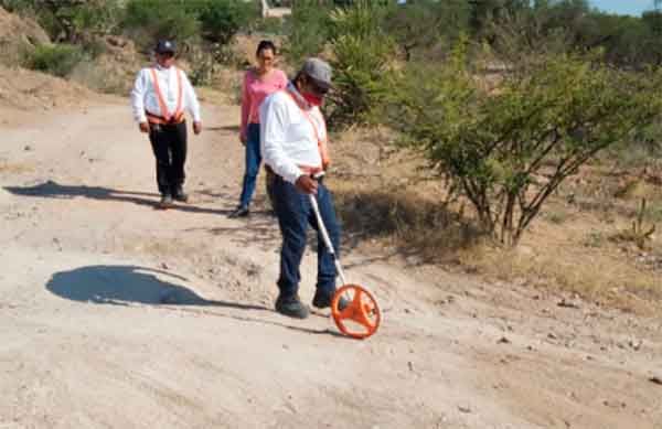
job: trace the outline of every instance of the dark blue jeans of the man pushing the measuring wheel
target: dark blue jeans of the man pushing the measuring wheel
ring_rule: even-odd
[[[324,226],[333,248],[339,251],[340,225],[335,217],[333,196],[329,190],[320,183],[317,193],[317,202]],[[309,196],[299,192],[297,187],[276,176],[274,180],[274,201],[278,224],[282,235],[282,248],[280,250],[280,276],[278,288],[284,296],[298,292],[301,272],[299,267],[303,250],[306,249],[306,232],[308,225],[318,230],[318,278],[317,289],[320,292],[333,293],[335,290],[335,264],[333,256],[327,249],[322,235],[318,229],[317,217],[312,211]]]

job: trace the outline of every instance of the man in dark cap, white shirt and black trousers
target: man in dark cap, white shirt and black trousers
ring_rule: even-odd
[[[183,184],[186,162],[186,121],[184,111],[193,117],[193,132],[202,131],[200,103],[183,71],[174,66],[174,42],[157,43],[156,64],[142,68],[131,90],[134,118],[140,132],[149,135],[157,159],[157,184],[161,208],[172,206],[172,200],[186,202]]]

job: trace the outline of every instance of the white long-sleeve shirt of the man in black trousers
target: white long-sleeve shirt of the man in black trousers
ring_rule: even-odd
[[[142,68],[138,72],[134,89],[131,90],[131,108],[134,110],[134,119],[137,122],[147,122],[147,116],[145,110],[152,115],[164,117],[161,112],[159,105],[159,96],[154,89],[153,79],[151,75],[151,68]],[[157,71],[157,78],[159,79],[159,88],[163,94],[163,101],[168,111],[172,115],[177,109],[177,103],[179,97],[179,83],[177,73],[182,74],[182,109],[189,111],[193,117],[193,121],[201,121],[200,116],[200,103],[193,90],[193,86],[186,74],[180,71],[175,66],[161,67],[160,65],[154,66]]]

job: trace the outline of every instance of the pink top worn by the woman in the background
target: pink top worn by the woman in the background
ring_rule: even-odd
[[[246,136],[248,124],[259,124],[259,106],[271,93],[287,86],[285,72],[274,68],[267,76],[258,78],[254,71],[246,72],[242,89],[242,136]]]

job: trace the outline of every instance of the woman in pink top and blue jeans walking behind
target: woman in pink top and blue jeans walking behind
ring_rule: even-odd
[[[246,147],[246,170],[239,205],[229,217],[245,217],[249,214],[250,200],[261,164],[259,151],[259,106],[271,93],[285,89],[286,74],[274,67],[276,46],[264,40],[257,45],[257,66],[246,72],[242,92],[242,128],[239,139]]]

